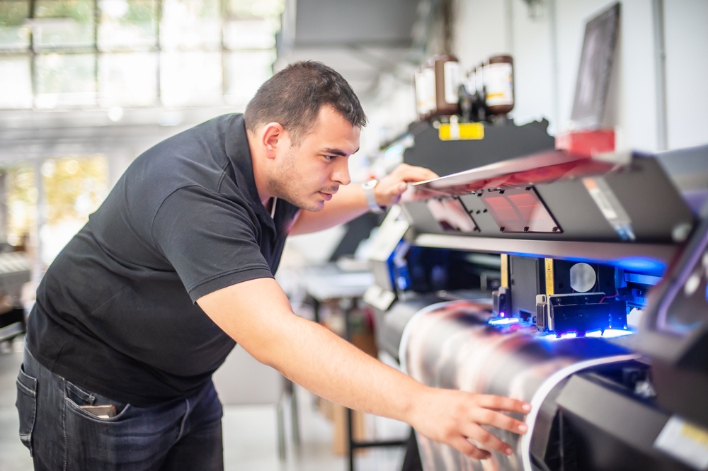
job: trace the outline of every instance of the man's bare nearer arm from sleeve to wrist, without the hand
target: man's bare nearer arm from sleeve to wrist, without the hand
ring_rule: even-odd
[[[264,278],[243,284],[250,285],[248,295],[234,294],[239,298],[236,302],[252,300],[252,308],[263,314],[239,316],[234,312],[233,316],[217,317],[215,322],[256,360],[338,404],[410,420],[414,396],[427,387],[368,356],[325,327],[292,314],[290,303],[275,280]],[[234,290],[240,291],[239,288]],[[209,295],[199,303],[207,312],[220,310],[212,306]],[[249,311],[249,306],[244,308],[243,312]]]

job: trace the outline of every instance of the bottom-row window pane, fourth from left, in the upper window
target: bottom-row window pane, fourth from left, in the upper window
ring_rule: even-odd
[[[164,52],[161,57],[160,86],[165,106],[220,103],[221,52]]]

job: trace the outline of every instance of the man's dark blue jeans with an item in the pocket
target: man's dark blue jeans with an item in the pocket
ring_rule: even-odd
[[[80,407],[108,404],[116,409],[110,419]],[[211,381],[188,399],[135,407],[64,380],[25,349],[16,406],[38,471],[224,469],[222,406]]]

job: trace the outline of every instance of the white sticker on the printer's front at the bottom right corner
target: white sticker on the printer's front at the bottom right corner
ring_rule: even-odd
[[[708,430],[671,416],[654,441],[654,448],[695,470],[708,470]]]

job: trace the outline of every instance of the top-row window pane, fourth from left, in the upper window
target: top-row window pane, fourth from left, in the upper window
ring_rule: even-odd
[[[160,44],[163,50],[220,49],[219,0],[164,0]]]

